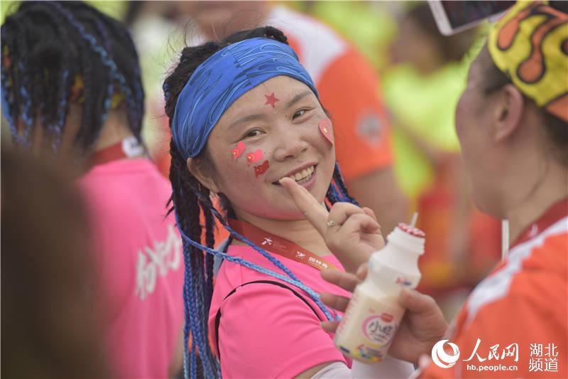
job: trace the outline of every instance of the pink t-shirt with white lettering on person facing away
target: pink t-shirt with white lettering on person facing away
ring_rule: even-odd
[[[94,166],[80,178],[96,248],[111,369],[165,378],[183,322],[182,242],[165,217],[170,183],[148,159]]]

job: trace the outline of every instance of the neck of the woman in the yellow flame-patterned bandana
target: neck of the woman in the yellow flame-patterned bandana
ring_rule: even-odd
[[[510,201],[505,210],[506,218],[509,220],[509,230],[511,243],[523,233],[523,230],[535,222],[546,212],[550,206],[568,196],[568,169],[556,162],[549,162],[549,165],[541,171],[540,181],[528,181],[527,178],[539,177],[525,174],[519,177],[512,191],[508,191]],[[520,191],[523,188],[523,191]],[[512,195],[518,193],[514,198]],[[524,198],[523,198],[524,197]]]

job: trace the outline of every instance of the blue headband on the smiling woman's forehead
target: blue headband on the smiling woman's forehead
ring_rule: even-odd
[[[319,98],[310,74],[285,43],[251,38],[207,58],[183,87],[172,121],[172,139],[184,159],[200,154],[213,127],[241,95],[278,75],[304,83]]]

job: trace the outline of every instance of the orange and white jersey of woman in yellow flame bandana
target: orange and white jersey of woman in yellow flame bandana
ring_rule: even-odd
[[[568,378],[568,199],[474,289],[449,343],[421,378]]]

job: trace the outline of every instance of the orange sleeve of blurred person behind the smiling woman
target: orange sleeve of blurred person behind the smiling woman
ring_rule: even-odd
[[[349,181],[393,163],[391,128],[373,68],[353,49],[334,60],[317,83],[331,113],[337,161]]]

